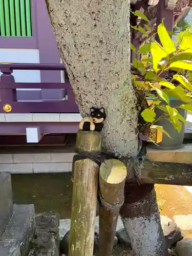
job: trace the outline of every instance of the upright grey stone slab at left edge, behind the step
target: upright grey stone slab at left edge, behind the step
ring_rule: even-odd
[[[12,186],[11,174],[0,173],[0,236],[5,230],[12,215]],[[0,254],[1,255],[1,254]]]

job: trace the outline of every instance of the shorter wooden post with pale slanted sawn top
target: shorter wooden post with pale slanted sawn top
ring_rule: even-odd
[[[126,166],[117,159],[105,160],[100,166],[99,256],[111,256],[113,251],[126,174]]]

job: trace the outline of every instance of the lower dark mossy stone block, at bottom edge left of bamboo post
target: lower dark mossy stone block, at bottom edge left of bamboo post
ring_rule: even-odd
[[[35,232],[29,256],[59,256],[59,237],[53,232]]]

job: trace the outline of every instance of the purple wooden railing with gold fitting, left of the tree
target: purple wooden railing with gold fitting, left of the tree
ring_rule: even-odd
[[[60,70],[65,72],[65,83],[59,82],[39,82],[39,83],[20,83],[15,82],[12,75],[13,70]],[[32,63],[0,63],[0,113],[4,104],[9,103],[12,106],[11,113],[79,113],[75,102],[74,94],[69,83],[65,65],[62,64],[32,64]],[[45,101],[18,101],[16,89],[65,89],[65,100]],[[27,92],[27,91],[26,91]],[[32,92],[32,91],[31,91]],[[51,90],[50,90],[51,92]]]

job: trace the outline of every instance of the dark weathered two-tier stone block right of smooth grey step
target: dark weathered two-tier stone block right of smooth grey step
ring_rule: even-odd
[[[38,214],[35,219],[35,236],[29,256],[59,256],[59,215]]]

